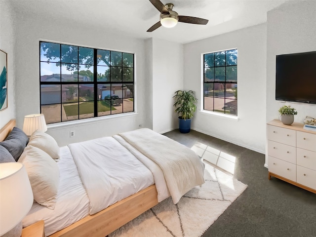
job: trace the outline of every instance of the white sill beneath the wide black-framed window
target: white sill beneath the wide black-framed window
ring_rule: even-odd
[[[54,129],[60,129],[63,127],[75,127],[78,125],[93,124],[93,123],[98,123],[98,122],[102,122],[102,121],[111,121],[111,120],[115,120],[118,118],[134,117],[136,115],[137,115],[136,112],[130,112],[130,113],[96,117],[96,118],[84,118],[84,119],[73,120],[73,121],[56,122],[56,123],[47,124],[47,128],[49,130],[54,130]]]

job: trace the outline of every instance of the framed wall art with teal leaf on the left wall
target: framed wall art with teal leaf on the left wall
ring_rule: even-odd
[[[7,54],[0,49],[0,111],[8,107]]]

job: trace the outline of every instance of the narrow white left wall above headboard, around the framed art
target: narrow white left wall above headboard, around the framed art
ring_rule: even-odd
[[[0,1],[0,49],[7,53],[7,105],[0,112],[0,128],[10,119],[15,118],[15,51],[14,17],[10,5]],[[2,70],[2,69],[1,69]]]

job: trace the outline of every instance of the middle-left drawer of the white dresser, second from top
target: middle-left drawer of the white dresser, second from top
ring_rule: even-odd
[[[269,156],[296,164],[296,148],[268,140]]]

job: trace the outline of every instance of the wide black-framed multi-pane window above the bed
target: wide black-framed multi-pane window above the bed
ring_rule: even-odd
[[[40,42],[40,112],[47,123],[134,111],[134,54]]]

